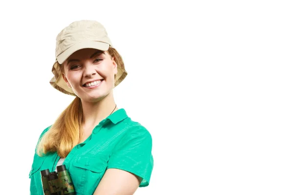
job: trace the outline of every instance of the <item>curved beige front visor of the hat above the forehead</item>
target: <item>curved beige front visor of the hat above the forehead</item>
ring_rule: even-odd
[[[57,56],[58,63],[62,64],[71,54],[74,52],[85,49],[85,48],[92,48],[92,49],[98,49],[101,51],[107,51],[109,49],[109,44],[99,41],[83,41],[76,43],[66,49],[63,53],[61,53],[59,56]]]

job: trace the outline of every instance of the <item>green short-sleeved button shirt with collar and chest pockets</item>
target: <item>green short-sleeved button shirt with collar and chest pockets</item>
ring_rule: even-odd
[[[40,138],[50,127],[42,132]],[[76,145],[63,164],[76,195],[92,195],[110,168],[142,177],[139,187],[146,187],[153,168],[151,149],[152,138],[146,128],[132,121],[124,109],[119,109],[102,120],[83,143]],[[31,195],[43,195],[40,171],[55,171],[59,159],[57,152],[42,157],[35,154],[29,173]]]

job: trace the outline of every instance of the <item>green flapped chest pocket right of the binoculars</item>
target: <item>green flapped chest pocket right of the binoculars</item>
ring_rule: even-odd
[[[105,174],[107,163],[100,157],[77,156],[70,176],[77,194],[93,194]]]

